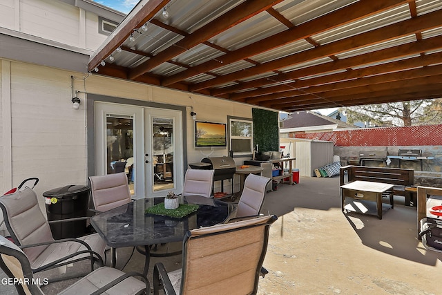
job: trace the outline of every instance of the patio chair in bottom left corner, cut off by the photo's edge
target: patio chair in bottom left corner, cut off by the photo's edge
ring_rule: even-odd
[[[12,278],[18,294],[44,294],[39,287],[44,285],[44,278],[34,278],[28,256],[3,236],[0,236],[0,267]],[[133,276],[140,276],[143,282]],[[115,268],[99,267],[59,294],[148,294],[149,289],[148,280],[142,274],[124,274]]]

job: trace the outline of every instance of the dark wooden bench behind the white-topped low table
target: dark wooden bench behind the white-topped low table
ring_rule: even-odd
[[[412,192],[406,191],[405,187],[414,185],[413,169],[349,165],[340,167],[339,172],[340,185],[355,180],[394,184],[392,194],[394,196],[404,196],[405,206],[411,206]],[[347,172],[347,182],[345,182],[345,172]]]

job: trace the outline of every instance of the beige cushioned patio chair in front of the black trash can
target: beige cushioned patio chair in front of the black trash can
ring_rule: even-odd
[[[35,191],[26,187],[0,198],[6,228],[15,244],[30,260],[32,272],[41,272],[79,260],[103,264],[106,243],[98,234],[54,240],[48,220],[43,215]],[[64,277],[62,279],[66,279]]]

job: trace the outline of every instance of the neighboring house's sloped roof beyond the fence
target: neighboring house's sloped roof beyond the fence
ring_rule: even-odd
[[[352,124],[347,124],[332,117],[320,115],[311,111],[300,111],[291,113],[289,118],[283,122],[281,131],[285,129],[299,129],[305,127],[320,127],[320,129],[349,129],[358,128]]]

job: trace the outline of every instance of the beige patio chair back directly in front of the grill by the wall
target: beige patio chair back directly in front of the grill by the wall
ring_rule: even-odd
[[[215,170],[187,169],[182,196],[211,198]]]

